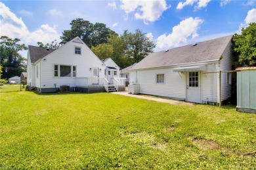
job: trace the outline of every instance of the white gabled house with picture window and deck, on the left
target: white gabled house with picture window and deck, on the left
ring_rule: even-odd
[[[79,37],[56,50],[28,46],[27,83],[40,93],[60,91],[64,85],[70,91],[108,91],[110,82],[104,74],[108,67],[113,67],[111,62],[103,63]],[[112,88],[121,90],[124,82],[115,77]]]

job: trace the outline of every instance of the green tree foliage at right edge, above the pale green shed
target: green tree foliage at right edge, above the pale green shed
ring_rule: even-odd
[[[236,56],[237,66],[256,66],[256,23],[242,28],[242,34],[233,37],[233,51]]]

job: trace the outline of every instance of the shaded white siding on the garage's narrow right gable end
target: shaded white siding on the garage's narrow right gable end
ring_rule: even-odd
[[[230,42],[226,49],[224,50],[220,68],[221,71],[230,71],[232,70],[232,43]],[[221,74],[221,99],[226,100],[230,97],[231,85],[226,83],[226,73]]]

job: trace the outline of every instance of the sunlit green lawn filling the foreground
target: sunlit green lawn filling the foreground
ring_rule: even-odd
[[[110,93],[0,93],[0,169],[255,169],[256,115]]]

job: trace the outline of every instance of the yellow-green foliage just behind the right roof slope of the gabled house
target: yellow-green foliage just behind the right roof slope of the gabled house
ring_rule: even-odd
[[[106,43],[91,47],[91,50],[100,58],[100,60],[110,58],[113,54],[113,46]]]

